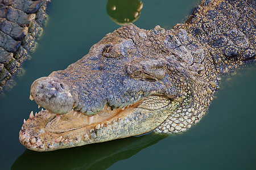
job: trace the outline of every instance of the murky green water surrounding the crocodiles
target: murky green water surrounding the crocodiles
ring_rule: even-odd
[[[169,29],[183,22],[197,1],[142,1],[135,24]],[[49,20],[26,73],[0,99],[0,169],[256,169],[256,68],[222,81],[208,114],[178,135],[147,134],[46,153],[26,150],[18,139],[23,118],[38,111],[29,100],[31,83],[77,61],[119,25],[107,1],[52,1]]]

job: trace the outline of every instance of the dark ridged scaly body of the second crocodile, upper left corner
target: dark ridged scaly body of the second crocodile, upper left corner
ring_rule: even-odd
[[[0,95],[14,85],[14,76],[34,52],[46,22],[49,0],[0,1]]]

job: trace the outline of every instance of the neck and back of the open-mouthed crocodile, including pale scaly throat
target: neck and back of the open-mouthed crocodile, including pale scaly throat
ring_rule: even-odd
[[[168,46],[187,71],[191,91],[189,100],[156,131],[178,133],[199,122],[218,89],[220,75],[255,63],[255,9],[255,1],[250,0],[204,1],[184,24],[175,25]]]

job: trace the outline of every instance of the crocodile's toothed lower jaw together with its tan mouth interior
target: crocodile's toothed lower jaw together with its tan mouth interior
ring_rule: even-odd
[[[106,105],[101,112],[94,116],[86,116],[73,111],[73,109],[62,115],[49,113],[47,109],[42,109],[35,115],[31,112],[28,120],[24,120],[19,140],[30,150],[51,151],[129,137],[131,131],[135,131],[135,133],[140,131],[142,117],[154,116],[153,114],[143,114],[139,110],[150,111],[147,104],[155,99],[164,99],[165,102],[160,107],[167,107],[171,103],[166,97],[148,96],[146,99],[123,108],[112,108]],[[154,109],[156,109],[155,106]],[[137,123],[136,126],[139,128],[133,128],[133,125]],[[129,128],[127,129],[127,127]],[[120,137],[115,129],[125,130],[126,135]],[[148,131],[151,130],[153,129],[150,127]]]

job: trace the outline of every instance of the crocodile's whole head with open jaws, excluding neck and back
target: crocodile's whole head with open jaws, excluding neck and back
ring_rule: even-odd
[[[30,97],[44,109],[24,120],[20,142],[51,151],[141,135],[163,124],[190,98],[184,66],[168,52],[168,33],[159,26],[121,27],[67,69],[35,80]]]

